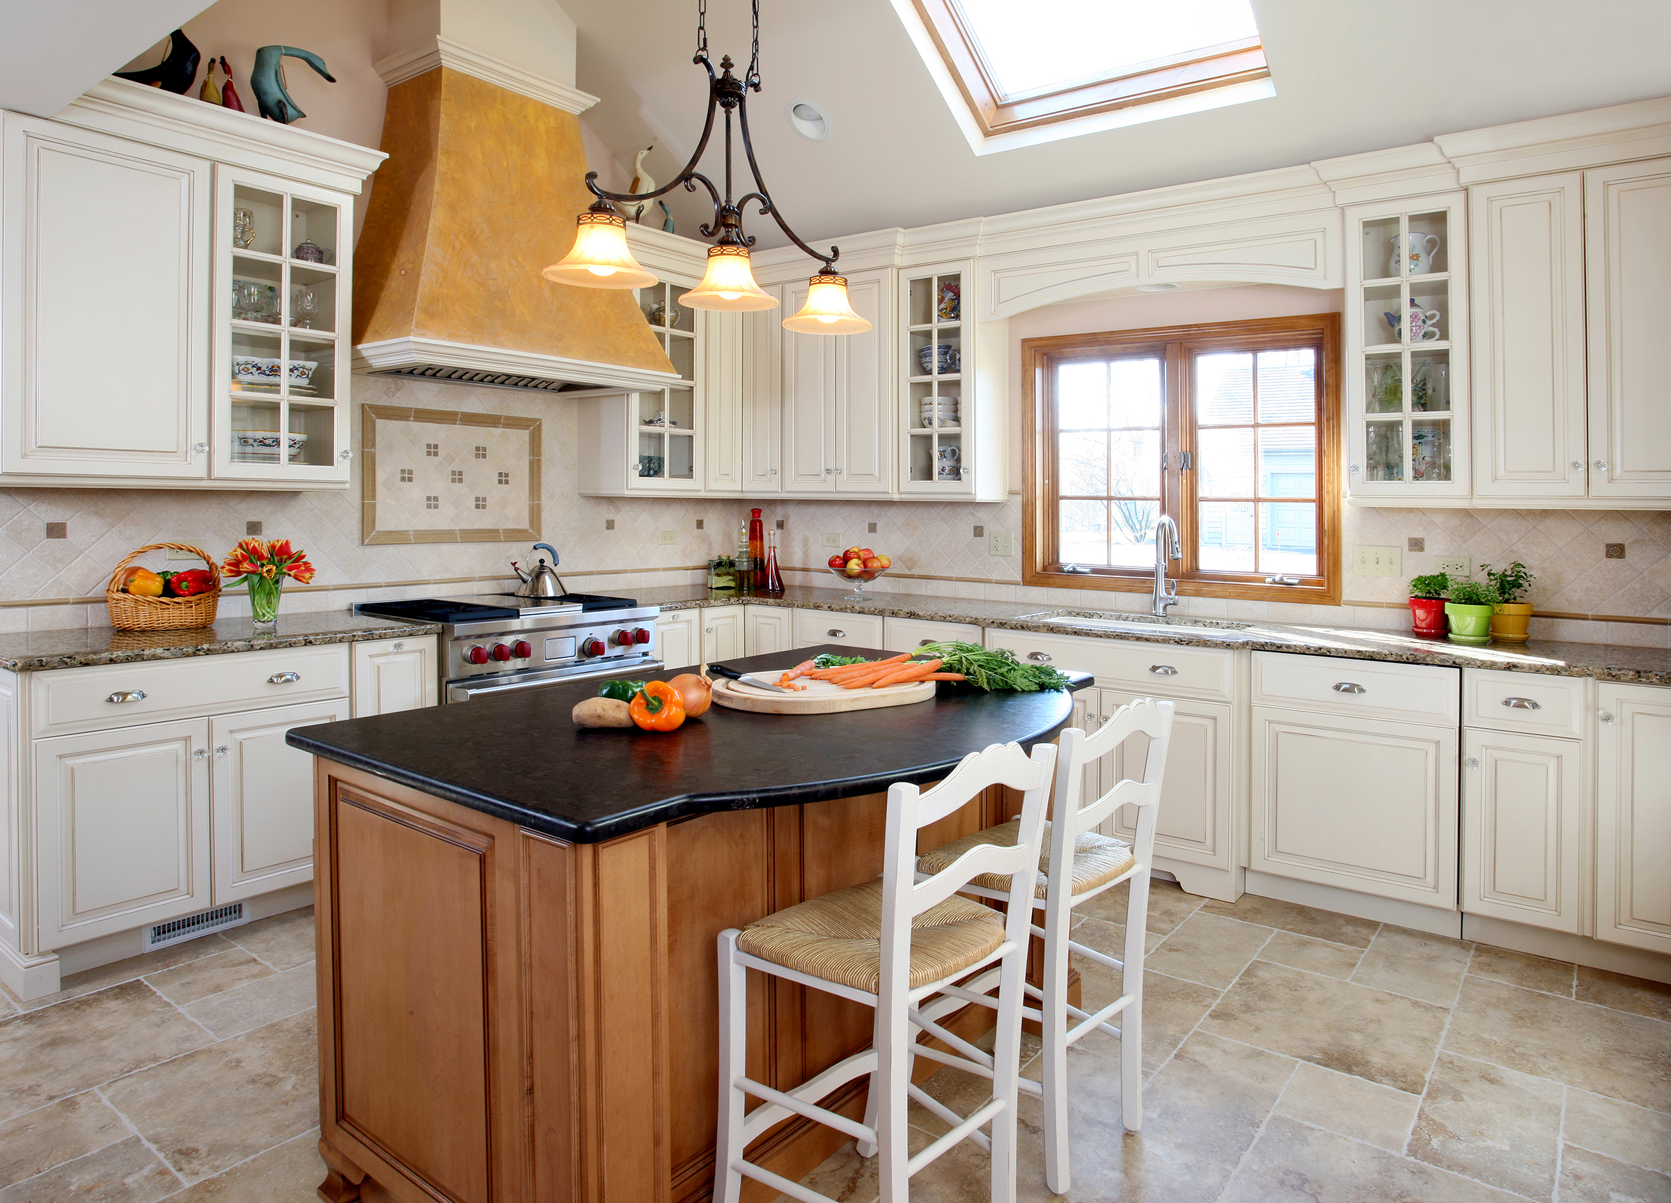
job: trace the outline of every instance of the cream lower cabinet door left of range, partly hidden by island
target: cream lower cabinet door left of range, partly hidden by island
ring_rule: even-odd
[[[284,735],[348,717],[344,698],[209,720],[214,906],[312,881],[314,765]]]

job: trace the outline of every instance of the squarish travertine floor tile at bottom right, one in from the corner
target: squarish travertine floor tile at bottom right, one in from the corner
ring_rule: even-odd
[[[1440,1053],[1410,1156],[1534,1200],[1554,1198],[1566,1088]]]

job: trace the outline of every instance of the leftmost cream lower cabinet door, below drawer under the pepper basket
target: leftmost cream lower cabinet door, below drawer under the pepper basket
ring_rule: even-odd
[[[35,740],[40,947],[209,906],[209,722]]]

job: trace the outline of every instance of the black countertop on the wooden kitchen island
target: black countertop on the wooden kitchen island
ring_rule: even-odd
[[[829,645],[730,663],[789,668],[819,652],[887,655]],[[1076,687],[1089,680],[1071,677]],[[1031,749],[1054,739],[1073,712],[1068,692],[942,687],[932,702],[879,710],[765,715],[714,707],[673,732],[582,730],[570,710],[597,692],[597,682],[530,688],[297,727],[286,742],[555,839],[597,844],[715,810],[934,782],[991,744]]]

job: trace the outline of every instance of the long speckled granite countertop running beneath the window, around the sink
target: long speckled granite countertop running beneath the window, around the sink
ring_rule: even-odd
[[[917,596],[911,593],[877,593],[874,602],[849,602],[844,590],[790,588],[782,596],[710,595],[700,585],[632,590],[643,605],[663,610],[687,610],[709,605],[780,605],[795,610],[834,610],[839,613],[874,613],[889,618],[922,618],[927,622],[971,623],[998,630],[1034,632],[1039,635],[1074,635],[1081,638],[1120,638],[1145,643],[1186,647],[1252,648],[1253,652],[1292,652],[1297,655],[1330,655],[1352,660],[1392,660],[1455,668],[1506,668],[1554,677],[1594,677],[1596,680],[1671,685],[1671,648],[1614,647],[1611,643],[1564,643],[1532,640],[1529,643],[1487,643],[1467,647],[1449,640],[1419,638],[1409,632],[1362,627],[1322,627],[1288,623],[1238,623],[1205,620],[1208,628],[1222,628],[1235,640],[1211,638],[1186,620],[1166,620],[1176,633],[1136,630],[1084,630],[1043,622],[1053,615],[1103,615],[1138,623],[1155,623],[1148,615],[1043,607],[1036,602],[976,602],[969,598]]]

